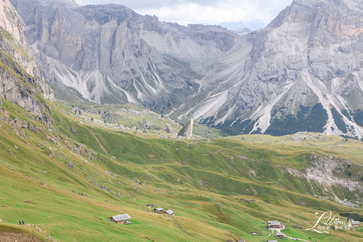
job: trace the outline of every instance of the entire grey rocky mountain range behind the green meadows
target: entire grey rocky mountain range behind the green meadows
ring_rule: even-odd
[[[58,99],[137,102],[233,135],[363,137],[358,0],[294,0],[245,36],[117,4],[11,3]]]

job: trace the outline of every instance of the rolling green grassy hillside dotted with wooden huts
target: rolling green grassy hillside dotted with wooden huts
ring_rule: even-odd
[[[5,115],[0,120],[0,185],[5,188],[0,190],[0,226],[16,227],[24,219],[58,242],[238,238],[257,242],[268,232],[261,237],[246,233],[261,231],[266,223],[260,221],[274,219],[289,226],[287,235],[308,241],[363,238],[355,229],[330,234],[305,230],[315,224],[315,212],[363,216],[359,187],[350,190],[332,184],[327,190],[317,181],[296,175],[295,171],[303,174],[306,168],[318,168],[319,159],[334,155],[329,159],[342,169],[350,164],[354,173],[347,178],[340,173],[335,176],[360,182],[361,158],[354,154],[347,158],[329,148],[330,140],[326,148],[318,148],[280,141],[257,144],[241,138],[160,138],[166,135],[164,131],[121,130],[91,121],[91,114],[77,117],[70,114],[69,106],[37,98],[49,105],[45,108],[54,120],[54,130],[2,99],[8,119],[17,117],[29,126],[11,126]],[[30,124],[42,131],[31,131]],[[69,163],[74,169],[66,165]],[[176,216],[147,212],[146,204],[171,209]],[[118,225],[107,219],[124,213],[133,223]],[[303,229],[293,229],[295,224]]]

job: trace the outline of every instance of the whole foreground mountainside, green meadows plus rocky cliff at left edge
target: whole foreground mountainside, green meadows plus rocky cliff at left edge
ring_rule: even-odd
[[[139,104],[54,99],[17,12],[0,3],[1,241],[257,242],[272,234],[268,220],[290,238],[362,240],[362,229],[307,229],[326,211],[363,220],[361,141],[313,132],[191,139]],[[110,221],[116,214],[132,223]]]

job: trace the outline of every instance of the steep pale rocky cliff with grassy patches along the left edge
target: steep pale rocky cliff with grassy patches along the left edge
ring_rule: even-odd
[[[13,6],[8,0],[1,0],[0,96],[41,117],[41,104],[32,95],[40,91],[45,97],[53,98],[53,90],[41,77],[23,29],[24,24]]]

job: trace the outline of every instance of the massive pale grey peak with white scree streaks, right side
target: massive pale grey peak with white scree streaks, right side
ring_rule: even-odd
[[[223,66],[206,87],[216,94],[193,117],[247,134],[362,138],[362,15],[358,0],[294,0],[264,30],[244,36],[241,49],[204,69]],[[301,127],[310,121],[319,127]]]

